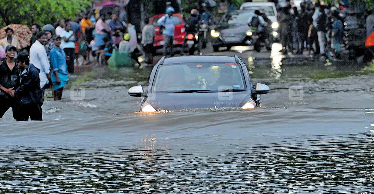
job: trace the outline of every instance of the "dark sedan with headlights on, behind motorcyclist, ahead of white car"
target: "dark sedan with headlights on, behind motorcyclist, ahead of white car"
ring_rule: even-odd
[[[253,45],[255,39],[258,39],[258,32],[252,30],[248,26],[248,19],[254,15],[253,12],[248,10],[236,10],[225,14],[215,29],[211,30],[211,41],[213,51],[219,51],[220,47],[227,47],[230,49],[232,46]],[[271,21],[264,18],[265,22],[269,25],[265,26],[267,31],[272,32],[270,27]],[[272,32],[269,36],[269,41],[273,42],[274,37],[278,35]],[[267,48],[271,50],[270,48]]]

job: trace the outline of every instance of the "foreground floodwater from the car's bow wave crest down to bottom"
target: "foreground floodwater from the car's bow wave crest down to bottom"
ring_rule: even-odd
[[[172,112],[0,124],[0,193],[364,193],[365,109]],[[318,123],[318,126],[316,126]]]

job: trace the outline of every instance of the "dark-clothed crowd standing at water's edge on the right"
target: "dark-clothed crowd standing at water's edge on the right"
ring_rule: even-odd
[[[341,59],[344,42],[344,22],[347,10],[343,6],[326,6],[317,2],[301,3],[301,9],[285,7],[280,12],[282,53],[324,56]],[[368,18],[372,13],[368,13]],[[373,32],[373,24],[367,19],[367,36]],[[362,35],[362,39],[367,36]]]

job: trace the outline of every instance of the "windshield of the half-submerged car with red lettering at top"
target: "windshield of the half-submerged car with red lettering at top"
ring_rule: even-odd
[[[245,91],[243,71],[237,63],[188,63],[160,65],[153,92]]]

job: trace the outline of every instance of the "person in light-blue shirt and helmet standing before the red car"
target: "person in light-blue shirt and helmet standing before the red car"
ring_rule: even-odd
[[[168,48],[170,48],[171,56],[174,56],[173,52],[173,40],[174,40],[174,25],[176,24],[175,20],[172,18],[173,13],[175,12],[173,7],[166,8],[166,15],[162,16],[158,21],[160,29],[162,29],[163,38],[165,44],[163,45],[163,55],[168,54]]]

